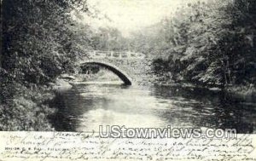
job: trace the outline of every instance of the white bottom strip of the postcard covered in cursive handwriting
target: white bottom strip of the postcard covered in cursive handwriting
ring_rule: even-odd
[[[0,132],[0,160],[256,160],[256,135],[236,139],[100,138],[67,132]]]

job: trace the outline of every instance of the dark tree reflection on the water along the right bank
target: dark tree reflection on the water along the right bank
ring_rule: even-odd
[[[172,110],[165,110],[161,117],[168,122],[193,124],[197,127],[216,129],[236,129],[238,133],[253,133],[255,121],[252,113],[256,113],[255,106],[247,106],[230,98],[223,92],[214,92],[207,89],[184,88],[154,88],[154,95],[169,97],[173,102]],[[179,98],[185,100],[179,101]],[[177,108],[182,108],[178,109]]]

